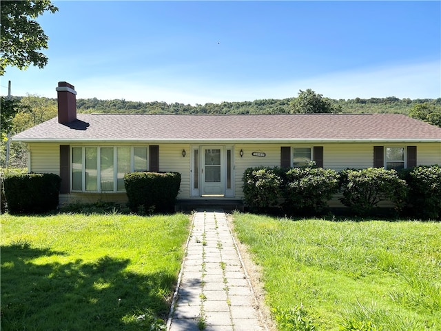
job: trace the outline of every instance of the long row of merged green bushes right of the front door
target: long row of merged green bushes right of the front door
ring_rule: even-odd
[[[410,210],[420,219],[441,219],[440,165],[400,174],[382,168],[336,172],[314,167],[258,167],[248,168],[243,175],[244,202],[253,212],[320,214],[339,191],[340,201],[358,216],[378,212],[381,201],[390,201],[396,212]]]

